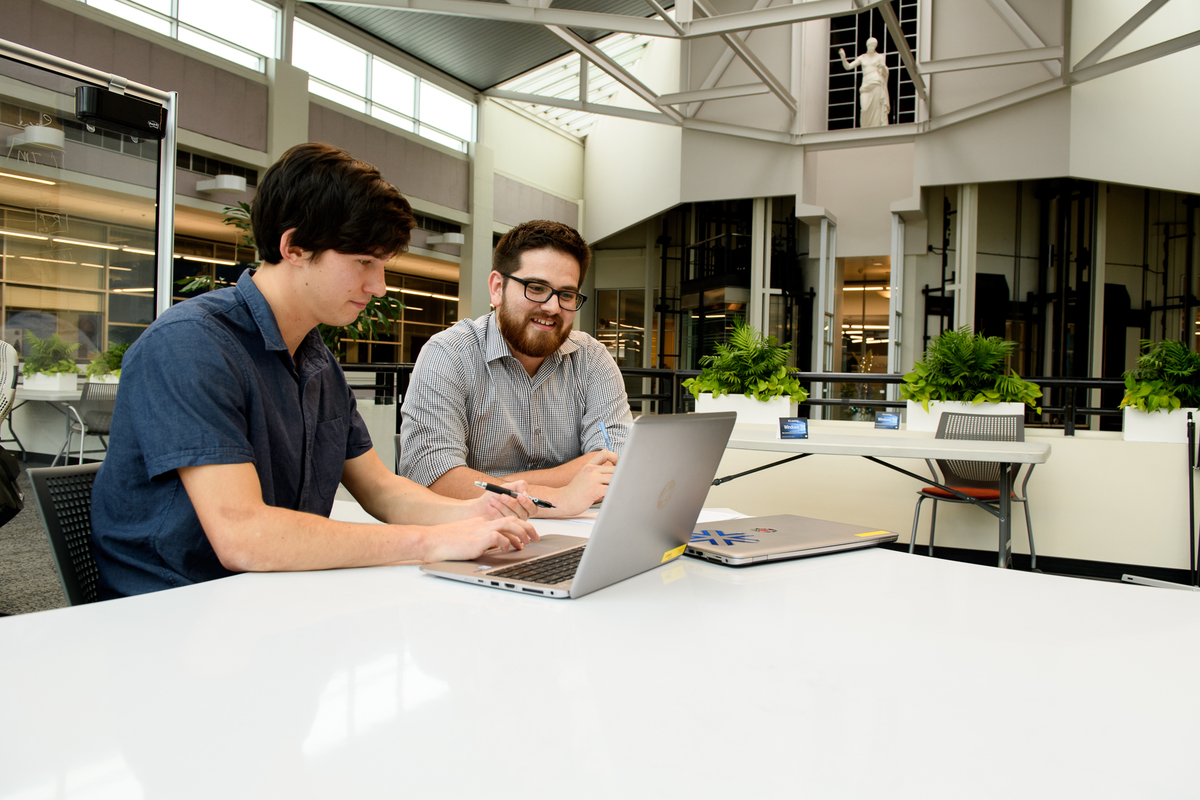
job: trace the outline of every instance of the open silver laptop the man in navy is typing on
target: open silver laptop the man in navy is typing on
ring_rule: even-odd
[[[736,419],[727,411],[638,417],[590,539],[551,534],[523,551],[421,570],[540,597],[581,597],[674,560],[696,527]]]

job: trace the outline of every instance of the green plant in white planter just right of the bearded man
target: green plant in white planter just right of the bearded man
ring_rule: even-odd
[[[790,351],[791,344],[739,320],[730,341],[701,357],[701,373],[682,385],[696,398],[697,411],[733,410],[738,422],[775,425],[809,396],[787,368]]]

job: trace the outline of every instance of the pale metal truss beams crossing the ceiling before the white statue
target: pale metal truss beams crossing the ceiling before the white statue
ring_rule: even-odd
[[[318,0],[308,1],[317,2]],[[1105,55],[1169,1],[1147,0],[1141,8],[1112,31],[1091,53],[1073,61],[1069,36],[1066,36],[1061,44],[1048,44],[1038,37],[1020,13],[1009,5],[1008,0],[988,0],[988,5],[995,12],[997,22],[1007,25],[1018,36],[1025,44],[1024,49],[922,62],[918,61],[917,56],[910,49],[900,31],[892,4],[888,0],[808,0],[806,2],[793,2],[790,5],[770,5],[770,0],[757,0],[752,8],[731,13],[720,13],[712,0],[677,0],[673,16],[667,13],[659,0],[644,0],[647,6],[654,12],[649,17],[556,8],[552,5],[553,0],[529,0],[527,4],[517,2],[517,0],[509,0],[509,2],[488,2],[486,0],[319,0],[323,6],[358,6],[409,13],[445,14],[472,19],[541,25],[570,46],[582,59],[580,100],[563,100],[542,95],[512,92],[498,88],[486,90],[484,95],[488,97],[623,116],[752,139],[817,146],[822,144],[845,146],[847,142],[854,140],[876,143],[896,137],[911,138],[916,133],[956,125],[1060,91],[1074,84],[1094,80],[1200,44],[1200,30],[1195,30],[1124,55],[1104,60]],[[1175,1],[1192,2],[1194,0]],[[919,121],[848,131],[800,131],[797,119],[799,103],[797,89],[788,86],[786,82],[767,68],[763,60],[748,44],[746,37],[749,32],[782,25],[803,25],[815,20],[847,14],[859,14],[871,8],[877,8],[883,16],[892,42],[899,50],[901,64],[916,86],[919,98]],[[1073,0],[1062,0],[1062,29],[1064,31],[1070,31],[1072,12]],[[649,86],[572,29],[628,32],[678,40],[685,48],[695,40],[716,37],[724,43],[725,48],[709,74],[701,82],[701,85],[688,91],[655,94]],[[793,48],[793,60],[797,58],[796,49]],[[719,85],[722,76],[734,59],[740,60],[757,80],[749,84]],[[1018,64],[1040,64],[1045,68],[1048,77],[1045,80],[1032,83],[967,108],[956,109],[938,116],[930,116],[926,76]],[[586,91],[588,65],[593,65],[606,72],[622,86],[648,103],[650,110],[588,102]],[[792,74],[799,74],[794,64]],[[697,119],[697,113],[704,103],[718,103],[724,100],[752,95],[773,95],[786,108],[792,120],[787,130],[768,130]]]

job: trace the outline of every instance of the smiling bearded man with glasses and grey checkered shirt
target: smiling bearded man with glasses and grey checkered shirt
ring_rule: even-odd
[[[580,234],[538,219],[492,255],[490,314],[433,336],[402,408],[400,473],[454,498],[527,481],[571,516],[601,500],[632,416],[602,344],[571,332],[592,261]]]

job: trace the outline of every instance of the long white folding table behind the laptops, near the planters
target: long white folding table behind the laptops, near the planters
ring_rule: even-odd
[[[730,438],[728,447],[733,450],[760,450],[766,452],[792,453],[794,458],[806,456],[862,456],[876,464],[887,467],[898,473],[904,473],[918,481],[931,486],[937,486],[958,497],[973,503],[980,509],[992,513],[998,523],[1000,546],[997,548],[997,566],[1007,567],[1013,558],[1013,513],[1012,491],[1013,476],[1010,468],[1013,464],[1044,464],[1050,458],[1050,445],[1042,441],[966,441],[956,439],[936,439],[934,434],[928,437],[901,434],[876,434],[876,435],[838,435],[828,433],[810,433],[808,439],[776,439],[775,433],[768,429],[734,428]],[[982,503],[960,492],[955,492],[948,486],[943,486],[932,479],[917,475],[895,464],[890,464],[882,458],[928,458],[928,459],[958,459],[958,461],[984,461],[1000,464],[1000,504],[998,509]],[[788,459],[791,461],[791,459]],[[782,462],[779,462],[782,463]],[[764,469],[764,468],[758,468]],[[758,471],[748,470],[740,475]],[[718,479],[721,480],[721,479]]]

